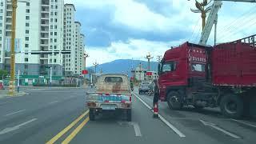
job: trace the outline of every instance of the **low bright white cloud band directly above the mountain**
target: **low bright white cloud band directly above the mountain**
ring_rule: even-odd
[[[92,66],[95,61],[98,63],[111,62],[115,59],[138,59],[146,60],[146,54],[150,53],[154,56],[163,55],[164,52],[170,49],[170,46],[177,46],[182,42],[182,39],[177,42],[150,42],[145,39],[130,39],[128,42],[112,42],[108,47],[88,47],[86,52],[90,54],[87,58],[86,65]],[[92,57],[91,57],[92,56]]]

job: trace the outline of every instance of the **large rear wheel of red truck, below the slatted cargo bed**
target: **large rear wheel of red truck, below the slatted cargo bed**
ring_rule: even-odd
[[[241,118],[243,113],[243,101],[236,94],[226,94],[220,102],[222,114],[229,118]]]

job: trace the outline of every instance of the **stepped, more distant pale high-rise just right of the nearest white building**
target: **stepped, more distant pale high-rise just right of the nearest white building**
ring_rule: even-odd
[[[81,23],[74,22],[75,7],[73,4],[64,6],[64,34],[63,50],[70,50],[70,54],[63,55],[63,66],[66,76],[80,75],[82,73],[82,54],[84,51],[83,38],[81,38]]]

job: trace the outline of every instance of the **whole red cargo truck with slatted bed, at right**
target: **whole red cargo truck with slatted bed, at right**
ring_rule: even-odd
[[[256,99],[256,36],[217,46],[185,42],[167,50],[158,65],[160,100],[170,109],[220,106],[222,114],[253,114]]]

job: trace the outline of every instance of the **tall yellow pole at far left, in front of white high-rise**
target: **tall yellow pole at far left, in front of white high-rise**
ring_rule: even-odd
[[[11,43],[10,43],[10,84],[9,84],[9,94],[15,94],[15,28],[16,28],[16,10],[17,10],[17,0],[12,0],[12,26],[11,26]]]

